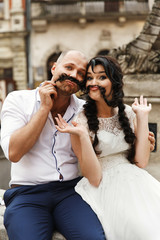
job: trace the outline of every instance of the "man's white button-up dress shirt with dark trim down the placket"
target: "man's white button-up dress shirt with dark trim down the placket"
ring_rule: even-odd
[[[70,122],[84,104],[75,95],[63,116]],[[38,88],[8,94],[1,112],[1,146],[6,158],[11,134],[25,126],[40,107]],[[60,177],[61,176],[61,177]],[[70,134],[55,128],[51,113],[38,141],[19,162],[11,163],[10,184],[35,185],[50,181],[67,181],[79,176],[78,160],[72,151]]]

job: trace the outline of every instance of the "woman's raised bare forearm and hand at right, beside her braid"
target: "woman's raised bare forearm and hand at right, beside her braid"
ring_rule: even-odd
[[[144,168],[148,164],[150,157],[150,141],[148,139],[148,115],[151,110],[151,104],[147,106],[147,99],[140,97],[140,103],[138,99],[132,104],[132,109],[136,113],[135,121],[135,135],[136,135],[136,153],[135,162],[136,165]]]

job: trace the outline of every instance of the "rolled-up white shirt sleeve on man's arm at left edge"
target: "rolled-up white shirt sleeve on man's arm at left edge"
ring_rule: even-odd
[[[9,159],[9,141],[13,132],[26,124],[25,106],[16,92],[8,94],[1,111],[1,147]]]

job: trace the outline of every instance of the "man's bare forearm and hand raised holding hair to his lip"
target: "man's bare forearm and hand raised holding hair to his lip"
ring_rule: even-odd
[[[51,94],[57,95],[54,85],[48,81],[39,88],[39,94],[41,98],[39,110],[26,125],[13,131],[10,136],[8,157],[11,162],[18,162],[34,146],[46,123],[49,111],[53,107],[53,99],[50,96]],[[13,118],[15,114],[16,112],[13,113]],[[5,119],[7,120],[7,109],[3,115],[2,123]],[[12,117],[9,119],[9,124],[12,124]]]

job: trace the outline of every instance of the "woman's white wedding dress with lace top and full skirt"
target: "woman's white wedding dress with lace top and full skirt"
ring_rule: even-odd
[[[125,111],[133,128],[135,114],[128,105]],[[75,121],[87,126],[83,112]],[[76,192],[97,214],[107,240],[160,240],[160,182],[126,159],[129,146],[118,115],[99,122],[97,150],[103,178],[96,188],[83,177]]]

